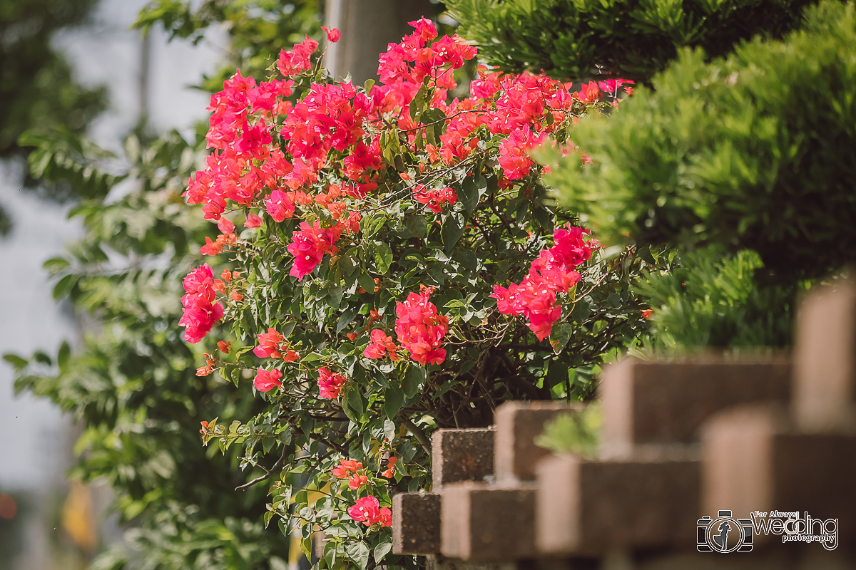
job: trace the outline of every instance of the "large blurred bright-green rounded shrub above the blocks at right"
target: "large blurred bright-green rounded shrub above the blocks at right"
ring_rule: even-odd
[[[594,160],[550,182],[598,235],[758,252],[759,278],[817,278],[856,249],[856,10],[807,11],[784,42],[706,64],[686,50],[609,120],[572,135]]]

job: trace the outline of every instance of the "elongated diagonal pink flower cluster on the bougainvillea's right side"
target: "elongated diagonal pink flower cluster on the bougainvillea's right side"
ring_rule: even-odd
[[[574,269],[591,259],[591,253],[599,245],[593,239],[584,239],[586,230],[579,227],[559,228],[553,233],[554,245],[541,251],[532,261],[529,273],[520,283],[500,285],[493,288],[496,308],[502,314],[522,314],[528,326],[544,340],[550,336],[556,320],[562,316],[562,305],[556,296],[567,293],[580,281],[580,273]]]

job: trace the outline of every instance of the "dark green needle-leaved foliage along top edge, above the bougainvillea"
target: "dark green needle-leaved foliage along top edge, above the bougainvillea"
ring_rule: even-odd
[[[722,56],[756,33],[781,37],[810,0],[449,0],[460,33],[504,71],[578,81],[641,79],[683,47]],[[600,79],[600,78],[598,78]]]

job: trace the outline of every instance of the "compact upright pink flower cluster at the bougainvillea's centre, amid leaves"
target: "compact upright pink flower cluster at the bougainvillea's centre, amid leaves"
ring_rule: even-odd
[[[449,329],[449,317],[437,314],[437,307],[428,300],[433,289],[425,288],[419,295],[410,293],[404,303],[395,304],[395,335],[401,347],[419,364],[440,364],[446,360],[446,350],[440,341]]]

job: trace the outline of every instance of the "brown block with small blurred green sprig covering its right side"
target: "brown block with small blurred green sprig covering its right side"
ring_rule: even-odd
[[[577,406],[576,408],[580,408]],[[561,402],[506,402],[496,408],[494,471],[497,482],[535,479],[535,465],[550,451],[534,444],[544,422],[574,409]]]

